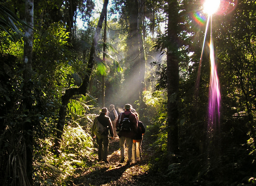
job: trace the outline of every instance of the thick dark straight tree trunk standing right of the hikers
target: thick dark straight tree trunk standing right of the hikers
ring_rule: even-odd
[[[178,100],[179,100],[179,60],[178,60],[178,2],[168,2],[167,48],[167,93],[168,93],[168,137],[169,154],[178,152]]]

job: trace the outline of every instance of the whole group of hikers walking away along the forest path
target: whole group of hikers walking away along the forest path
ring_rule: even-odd
[[[94,119],[91,137],[96,138],[99,145],[98,161],[109,163],[107,160],[109,134],[112,140],[119,137],[120,163],[126,161],[126,164],[129,165],[141,161],[141,142],[146,129],[139,121],[139,115],[132,105],[126,104],[123,109],[125,111],[118,114],[114,105],[110,105],[109,110],[104,107],[101,109],[100,115]]]

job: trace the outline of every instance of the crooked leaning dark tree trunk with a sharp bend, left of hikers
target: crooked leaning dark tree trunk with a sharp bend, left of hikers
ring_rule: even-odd
[[[92,46],[90,49],[88,65],[87,65],[86,72],[85,72],[86,76],[84,77],[84,80],[80,87],[67,89],[65,91],[65,94],[62,96],[62,106],[59,111],[60,119],[59,119],[57,127],[56,127],[57,132],[56,132],[56,140],[54,143],[54,150],[55,150],[56,154],[59,154],[59,149],[61,146],[61,139],[62,139],[63,129],[64,129],[64,125],[65,125],[66,107],[67,107],[68,101],[73,95],[79,95],[79,94],[85,95],[87,92],[87,86],[89,83],[92,67],[94,64],[95,48],[96,48],[96,45],[99,40],[99,34],[100,34],[100,30],[102,28],[104,16],[107,12],[107,4],[108,4],[108,0],[104,0],[103,8],[102,8],[102,11],[100,14],[98,25],[97,25],[97,28],[96,28],[96,31],[95,31],[95,34],[93,37]]]

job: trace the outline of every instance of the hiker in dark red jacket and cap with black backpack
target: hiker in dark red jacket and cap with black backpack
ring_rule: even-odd
[[[131,112],[131,108],[132,106],[130,104],[126,104],[124,107],[125,111],[120,113],[120,115],[118,116],[118,122],[116,122],[116,128],[118,129],[119,145],[120,145],[120,151],[121,151],[120,163],[123,163],[125,161],[124,152],[125,152],[125,142],[126,142],[127,165],[129,165],[132,162],[131,160],[132,159],[132,143],[138,128],[138,121],[136,119],[135,114]],[[130,122],[129,129],[124,128],[124,121],[127,121],[127,118]]]

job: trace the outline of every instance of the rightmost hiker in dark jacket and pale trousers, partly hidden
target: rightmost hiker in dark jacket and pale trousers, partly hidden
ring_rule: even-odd
[[[143,134],[146,132],[146,128],[144,127],[143,123],[139,121],[139,115],[137,112],[134,113],[137,120],[138,120],[138,130],[136,133],[135,138],[133,138],[133,144],[132,144],[132,163],[135,163],[137,161],[141,161],[141,142],[143,140]],[[137,157],[137,159],[136,159]]]

